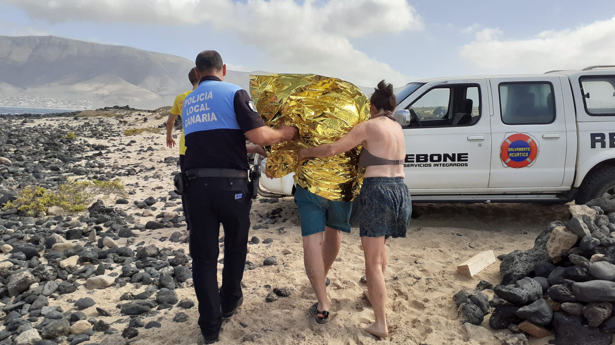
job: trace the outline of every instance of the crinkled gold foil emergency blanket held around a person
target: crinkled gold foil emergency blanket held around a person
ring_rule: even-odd
[[[335,142],[370,117],[370,103],[349,82],[315,74],[250,76],[250,94],[264,122],[298,128],[298,141],[267,147],[266,172],[282,177],[295,172],[298,185],[333,201],[351,201],[359,192],[360,147],[329,158],[297,161],[298,147]]]

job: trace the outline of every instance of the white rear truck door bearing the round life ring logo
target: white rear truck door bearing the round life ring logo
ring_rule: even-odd
[[[566,123],[558,76],[491,78],[489,187],[560,187]]]

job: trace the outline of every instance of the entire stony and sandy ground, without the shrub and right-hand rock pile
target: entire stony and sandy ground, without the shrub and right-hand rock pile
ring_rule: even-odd
[[[165,147],[164,131],[148,129],[162,128],[165,114],[114,107],[77,115],[0,117],[6,128],[0,133],[0,157],[6,158],[0,161],[0,204],[16,203],[18,192],[33,185],[57,192],[70,182],[121,180],[125,192],[97,193],[70,213],[62,207],[0,212],[0,344],[196,343],[188,236],[172,187],[177,148]],[[145,131],[128,136],[134,128]],[[543,224],[564,220],[566,212],[523,204],[416,208],[423,216],[413,220],[410,239],[387,242],[389,341],[482,344],[463,340],[466,330],[449,299],[460,285],[471,289],[477,282],[450,267],[485,248],[507,254],[531,247]],[[519,222],[519,212],[528,217]],[[330,324],[315,326],[306,314],[315,296],[303,270],[292,198],[259,198],[250,219],[245,303],[224,325],[221,344],[378,342],[359,331],[373,314],[362,300],[363,253],[355,233],[343,236],[329,274],[336,312]],[[492,266],[480,279],[500,279]]]

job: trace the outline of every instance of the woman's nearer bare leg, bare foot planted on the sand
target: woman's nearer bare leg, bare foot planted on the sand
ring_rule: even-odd
[[[368,333],[384,338],[389,335],[386,324],[386,286],[384,285],[383,275],[383,252],[384,236],[373,238],[363,236],[361,238],[363,252],[365,254],[365,276],[367,277],[367,288],[370,303],[374,309],[376,321],[363,328]]]

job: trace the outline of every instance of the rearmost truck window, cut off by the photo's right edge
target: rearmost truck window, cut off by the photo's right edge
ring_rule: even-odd
[[[584,76],[579,82],[587,114],[615,115],[615,76]]]

